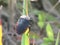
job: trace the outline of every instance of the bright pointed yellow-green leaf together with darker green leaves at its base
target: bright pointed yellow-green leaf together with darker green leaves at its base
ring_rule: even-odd
[[[46,26],[46,33],[47,37],[43,38],[44,42],[41,45],[52,45],[54,42],[54,34],[49,23]]]

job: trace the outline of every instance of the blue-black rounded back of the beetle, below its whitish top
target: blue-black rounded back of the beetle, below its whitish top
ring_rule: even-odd
[[[18,34],[22,34],[26,31],[26,29],[29,27],[29,20],[20,18],[18,21],[18,24],[16,26],[16,31]]]

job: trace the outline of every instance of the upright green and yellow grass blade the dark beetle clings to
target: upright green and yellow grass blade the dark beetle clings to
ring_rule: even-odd
[[[28,0],[23,0],[23,15],[28,16]],[[21,45],[29,45],[29,28],[27,27],[26,32],[22,35]]]

